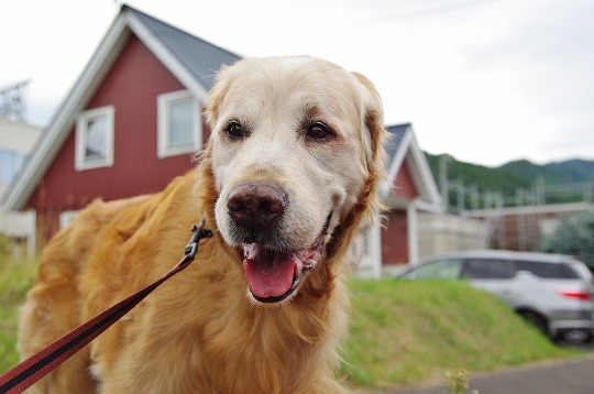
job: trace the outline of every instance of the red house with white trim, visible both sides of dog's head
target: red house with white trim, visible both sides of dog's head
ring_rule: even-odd
[[[2,196],[2,211],[36,212],[43,241],[95,198],[163,189],[193,165],[209,135],[200,106],[223,64],[240,59],[131,7],[120,14],[44,138]],[[418,255],[416,214],[440,197],[410,124],[387,128],[392,209],[387,228],[369,229],[363,269]]]

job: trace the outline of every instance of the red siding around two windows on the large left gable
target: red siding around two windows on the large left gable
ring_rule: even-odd
[[[77,172],[73,128],[29,201],[42,220],[44,214],[53,217],[48,233],[55,231],[59,211],[79,209],[97,197],[111,200],[157,191],[193,166],[189,154],[157,157],[156,97],[180,89],[184,86],[132,35],[87,106],[116,108],[114,164]]]

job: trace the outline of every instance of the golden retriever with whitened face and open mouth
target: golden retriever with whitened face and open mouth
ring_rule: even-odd
[[[43,393],[339,393],[344,271],[378,210],[383,111],[371,83],[312,57],[223,68],[196,169],[95,201],[45,248],[22,311],[29,357],[165,274],[193,223],[215,237],[52,374]]]

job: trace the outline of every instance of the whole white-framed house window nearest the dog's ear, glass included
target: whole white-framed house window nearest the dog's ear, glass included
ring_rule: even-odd
[[[157,98],[158,157],[196,152],[201,143],[201,121],[198,101],[187,90],[161,95]]]

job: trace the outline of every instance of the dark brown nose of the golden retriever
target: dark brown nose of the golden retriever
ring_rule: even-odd
[[[286,194],[270,184],[242,184],[229,194],[227,208],[235,225],[258,230],[274,225],[285,211]]]

